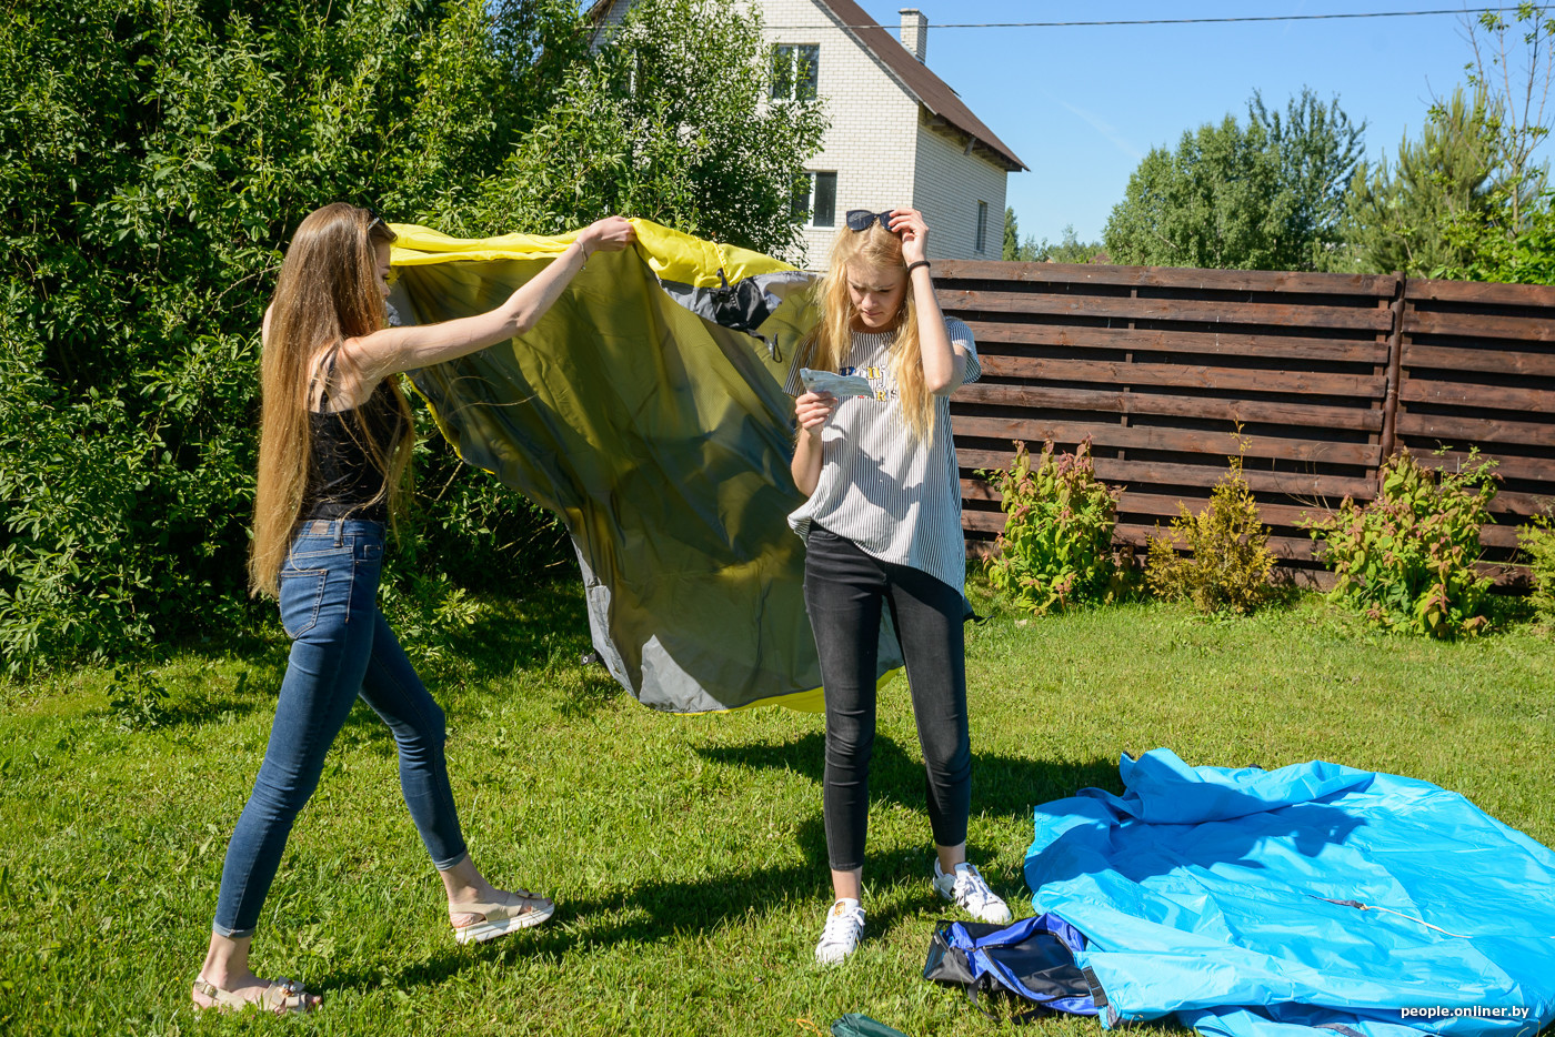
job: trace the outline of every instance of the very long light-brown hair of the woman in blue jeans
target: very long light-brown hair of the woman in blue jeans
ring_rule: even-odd
[[[375,246],[393,239],[393,232],[365,208],[334,202],[309,213],[286,249],[261,359],[260,473],[249,550],[253,594],[277,595],[281,563],[302,513],[314,463],[309,387],[316,376],[328,375],[317,370],[320,351],[387,323]],[[411,406],[398,381],[390,378],[389,384],[401,417],[395,440],[378,442],[364,420],[367,407],[356,407],[356,420],[347,428],[355,424],[351,434],[384,473],[376,501],[387,499],[393,521],[409,476],[412,432]]]

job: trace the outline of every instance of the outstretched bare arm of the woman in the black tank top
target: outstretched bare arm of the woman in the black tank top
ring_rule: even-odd
[[[524,334],[561,297],[568,283],[594,252],[620,252],[636,239],[631,224],[608,216],[578,232],[577,239],[550,264],[508,295],[496,309],[474,317],[409,328],[383,328],[347,339],[344,358],[367,384],[398,372],[453,361],[488,345]]]

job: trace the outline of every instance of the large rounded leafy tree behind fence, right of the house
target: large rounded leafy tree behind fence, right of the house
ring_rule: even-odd
[[[1113,263],[1311,271],[1331,264],[1340,197],[1365,124],[1311,90],[1270,113],[1256,93],[1152,149],[1129,177],[1102,239]]]

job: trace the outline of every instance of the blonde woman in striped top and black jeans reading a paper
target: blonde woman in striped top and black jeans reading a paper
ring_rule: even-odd
[[[854,210],[819,283],[821,322],[788,378],[798,395],[788,516],[805,539],[804,599],[826,692],[823,812],[835,902],[815,956],[846,959],[865,930],[865,832],[882,609],[907,662],[928,771],[935,891],[984,922],[1009,908],[966,860],[972,791],[961,484],[950,393],[978,378],[972,333],[944,317],[921,213]],[[868,379],[872,398],[805,392],[801,365]]]

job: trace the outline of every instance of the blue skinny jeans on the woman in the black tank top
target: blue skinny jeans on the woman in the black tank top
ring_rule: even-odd
[[[309,519],[291,543],[280,575],[291,656],[264,763],[227,844],[211,925],[219,936],[253,933],[297,812],[358,695],[393,731],[400,788],[432,863],[448,869],[465,857],[443,762],[443,711],[378,611],[383,557],[383,522]]]

